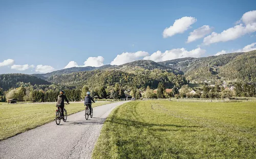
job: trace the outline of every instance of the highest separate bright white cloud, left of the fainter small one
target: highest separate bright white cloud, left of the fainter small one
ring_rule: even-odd
[[[190,25],[194,24],[197,21],[195,17],[182,17],[180,19],[176,19],[173,26],[166,28],[163,31],[163,37],[171,37],[175,34],[184,33],[186,30],[190,28]]]

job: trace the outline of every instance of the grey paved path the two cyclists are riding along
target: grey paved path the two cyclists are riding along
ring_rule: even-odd
[[[84,111],[0,142],[0,158],[91,158],[101,127],[110,112],[126,101],[95,107],[93,118]],[[68,111],[68,109],[67,109]]]

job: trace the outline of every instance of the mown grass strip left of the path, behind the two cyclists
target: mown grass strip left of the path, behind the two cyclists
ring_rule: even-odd
[[[110,102],[96,102],[93,107]],[[68,115],[84,110],[83,103],[65,106]],[[0,105],[0,140],[23,133],[55,119],[55,104],[2,104]]]

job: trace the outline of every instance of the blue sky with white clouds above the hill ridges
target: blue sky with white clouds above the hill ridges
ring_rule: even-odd
[[[256,49],[256,1],[3,1],[0,74]]]

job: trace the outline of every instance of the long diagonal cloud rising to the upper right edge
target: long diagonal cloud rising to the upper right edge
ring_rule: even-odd
[[[239,22],[242,23],[224,30],[220,34],[212,32],[211,35],[204,38],[203,44],[209,45],[212,43],[230,41],[245,34],[256,32],[256,10],[244,13]]]

